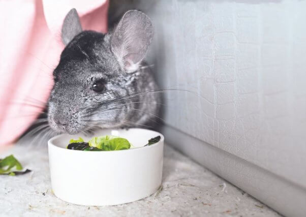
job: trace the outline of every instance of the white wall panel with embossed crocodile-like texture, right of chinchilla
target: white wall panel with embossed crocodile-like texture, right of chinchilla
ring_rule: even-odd
[[[166,123],[306,187],[306,2],[241,2],[146,4]]]

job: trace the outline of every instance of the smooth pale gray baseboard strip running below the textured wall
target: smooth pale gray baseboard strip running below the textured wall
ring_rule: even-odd
[[[286,216],[305,216],[303,187],[172,127],[163,126],[161,131],[175,149],[274,210]]]

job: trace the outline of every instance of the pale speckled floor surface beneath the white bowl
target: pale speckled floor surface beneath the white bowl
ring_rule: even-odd
[[[279,216],[230,183],[165,146],[163,184],[148,198],[116,206],[80,206],[52,191],[47,150],[15,146],[0,152],[33,172],[0,176],[0,216]]]

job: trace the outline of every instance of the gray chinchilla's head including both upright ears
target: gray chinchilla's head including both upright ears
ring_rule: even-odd
[[[139,89],[142,81],[135,80],[135,72],[152,35],[150,19],[136,10],[125,13],[113,30],[101,34],[82,31],[78,14],[72,9],[62,27],[66,47],[53,72],[54,86],[48,101],[51,128],[75,134],[96,125],[120,127],[120,120],[128,115],[127,107],[107,110],[114,99]],[[124,104],[125,100],[120,101]]]

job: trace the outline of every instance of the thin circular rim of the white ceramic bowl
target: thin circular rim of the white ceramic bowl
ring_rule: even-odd
[[[124,149],[124,150],[109,150],[109,151],[83,151],[83,150],[72,150],[72,149],[68,149],[68,148],[64,148],[64,147],[59,147],[57,145],[54,144],[54,140],[57,139],[58,137],[67,135],[67,134],[60,134],[57,136],[52,137],[51,139],[48,140],[48,147],[54,147],[56,149],[58,149],[58,151],[81,151],[84,154],[85,153],[92,153],[92,154],[106,154],[106,153],[113,153],[113,152],[118,152],[118,151],[137,151],[137,150],[143,150],[143,148],[152,148],[154,146],[160,145],[164,143],[164,135],[161,134],[160,132],[154,131],[154,130],[148,130],[148,129],[143,129],[143,128],[129,128],[129,130],[142,130],[142,131],[151,131],[151,132],[155,132],[158,133],[161,136],[160,141],[158,141],[155,144],[152,145],[148,145],[148,146],[141,146],[141,147],[135,147],[135,148],[129,148],[129,149]],[[112,130],[112,129],[102,129],[102,130]],[[115,129],[115,130],[124,130],[124,129]],[[76,152],[75,152],[76,153]]]

